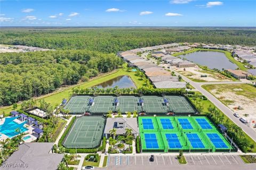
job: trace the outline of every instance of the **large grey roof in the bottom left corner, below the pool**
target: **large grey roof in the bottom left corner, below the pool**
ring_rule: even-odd
[[[24,165],[27,167],[5,167],[6,170],[17,169],[57,169],[63,154],[49,154],[54,143],[30,142],[23,143],[7,160],[6,164]]]

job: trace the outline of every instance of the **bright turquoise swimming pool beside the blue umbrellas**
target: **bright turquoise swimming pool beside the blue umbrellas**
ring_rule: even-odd
[[[16,123],[13,120],[15,120],[17,117],[7,117],[5,118],[4,124],[0,125],[0,133],[5,134],[7,137],[12,138],[15,135],[18,135],[22,132],[27,131],[28,129],[25,128],[23,125],[26,122],[23,123]],[[19,131],[17,131],[19,130]]]

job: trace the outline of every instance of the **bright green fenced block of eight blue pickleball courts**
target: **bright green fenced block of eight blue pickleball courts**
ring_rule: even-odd
[[[235,151],[205,116],[139,116],[142,152]]]

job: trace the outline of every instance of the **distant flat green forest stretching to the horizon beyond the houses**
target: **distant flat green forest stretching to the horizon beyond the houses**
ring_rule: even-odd
[[[256,45],[252,28],[3,28],[0,44],[116,53],[167,43]]]

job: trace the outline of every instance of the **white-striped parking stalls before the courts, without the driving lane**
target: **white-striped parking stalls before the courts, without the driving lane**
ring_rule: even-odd
[[[179,166],[176,156],[157,155],[155,161],[150,162],[148,156],[109,156],[107,166],[153,166],[169,165]],[[237,155],[197,155],[185,156],[187,165],[195,166],[237,166],[244,165]],[[181,166],[181,165],[180,165]],[[182,165],[183,166],[183,165]]]

